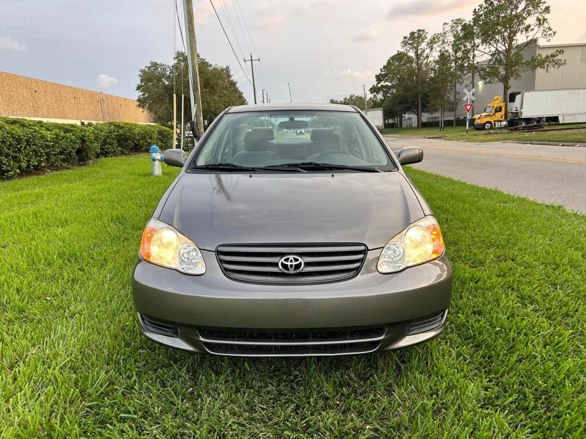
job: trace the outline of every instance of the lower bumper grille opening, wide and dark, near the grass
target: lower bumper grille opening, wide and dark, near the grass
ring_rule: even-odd
[[[236,356],[349,355],[380,346],[384,328],[301,331],[199,330],[212,354]]]

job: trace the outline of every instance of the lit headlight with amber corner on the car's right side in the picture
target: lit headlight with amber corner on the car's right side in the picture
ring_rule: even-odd
[[[394,236],[380,252],[380,273],[394,273],[406,267],[439,258],[444,253],[440,226],[431,215],[418,219]]]

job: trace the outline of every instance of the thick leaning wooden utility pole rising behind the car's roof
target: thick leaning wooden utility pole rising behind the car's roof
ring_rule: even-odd
[[[199,67],[197,67],[197,44],[195,42],[195,22],[193,21],[193,2],[183,0],[187,61],[189,67],[189,92],[191,97],[191,116],[197,126],[197,133],[203,134],[202,96],[199,88]]]

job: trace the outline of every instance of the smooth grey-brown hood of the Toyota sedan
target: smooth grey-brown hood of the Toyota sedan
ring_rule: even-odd
[[[185,173],[159,219],[200,248],[237,243],[384,246],[424,216],[400,172]]]

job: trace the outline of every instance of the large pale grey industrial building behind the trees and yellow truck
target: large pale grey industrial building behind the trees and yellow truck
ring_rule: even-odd
[[[523,50],[523,56],[530,59],[536,54],[547,55],[555,52],[558,49],[563,49],[563,59],[565,65],[560,68],[553,68],[550,71],[539,69],[531,71],[527,69],[522,72],[520,80],[511,81],[509,92],[513,91],[529,91],[529,90],[558,90],[561,88],[586,88],[586,43],[573,44],[539,44],[539,39],[534,40],[526,49]],[[482,61],[479,63],[482,64]],[[458,111],[456,112],[456,119],[465,119],[466,110],[464,109],[465,94],[463,89],[472,87],[476,88],[474,93],[476,100],[474,101],[474,108],[471,114],[478,114],[495,96],[503,94],[502,84],[485,84],[478,74],[476,74],[475,84],[471,84],[470,76],[464,78],[459,88],[459,102]],[[451,111],[450,111],[451,110]],[[447,108],[445,110],[445,125],[449,126],[454,118],[453,109]],[[409,121],[411,119],[411,121]],[[423,121],[438,121],[440,115],[423,114]],[[403,126],[417,126],[417,116],[407,115],[403,121]]]

